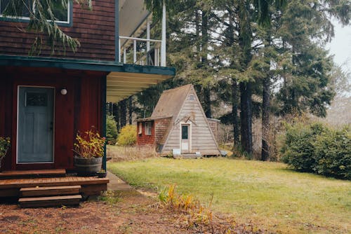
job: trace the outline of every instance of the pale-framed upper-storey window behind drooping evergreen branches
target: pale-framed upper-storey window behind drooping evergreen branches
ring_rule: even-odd
[[[38,1],[38,0],[37,0]],[[62,4],[63,1],[63,4]],[[72,18],[72,2],[70,0],[62,0],[62,1],[51,1],[53,8],[53,15],[55,16],[55,22],[58,25],[67,25],[71,23]],[[39,4],[34,4],[34,0],[22,0],[22,1],[14,1],[18,6],[15,6],[15,13],[13,16],[8,14],[6,18],[4,17],[5,11],[8,11],[10,8],[10,0],[0,0],[0,18],[2,20],[13,20],[20,22],[28,22],[29,21],[29,10],[35,13],[37,7],[41,6],[44,9],[44,13],[46,13],[46,18],[50,18],[48,15],[48,1],[47,0],[39,0]],[[7,9],[6,9],[7,8]],[[12,8],[12,7],[11,7]],[[12,13],[12,12],[11,12]]]

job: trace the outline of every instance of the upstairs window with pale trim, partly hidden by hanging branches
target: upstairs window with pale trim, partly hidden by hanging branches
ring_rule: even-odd
[[[48,8],[46,0],[39,0],[42,4],[43,8]],[[53,15],[55,15],[55,22],[58,25],[69,26],[72,21],[72,2],[71,0],[67,0],[67,6],[64,7],[60,2],[54,4],[53,6]],[[1,20],[10,20],[10,21],[20,21],[20,22],[28,22],[29,21],[29,11],[28,8],[33,8],[33,0],[23,0],[16,1],[22,5],[18,6],[18,13],[12,16],[4,17],[4,11],[6,11],[6,7],[10,3],[10,0],[0,0],[0,18]],[[55,2],[55,1],[54,1]],[[35,9],[33,10],[35,11]]]

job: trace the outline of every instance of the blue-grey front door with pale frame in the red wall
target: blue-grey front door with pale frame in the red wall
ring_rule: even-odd
[[[18,87],[17,163],[53,163],[54,88]]]

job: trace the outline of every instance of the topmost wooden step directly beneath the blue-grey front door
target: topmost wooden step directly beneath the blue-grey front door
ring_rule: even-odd
[[[65,177],[65,169],[52,170],[25,170],[25,171],[4,171],[0,172],[0,179],[15,179],[15,178],[43,178],[43,177]]]

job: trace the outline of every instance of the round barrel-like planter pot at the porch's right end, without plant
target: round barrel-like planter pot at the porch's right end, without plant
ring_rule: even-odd
[[[101,170],[102,158],[81,158],[74,156],[74,167],[77,174],[83,177],[94,176]]]

